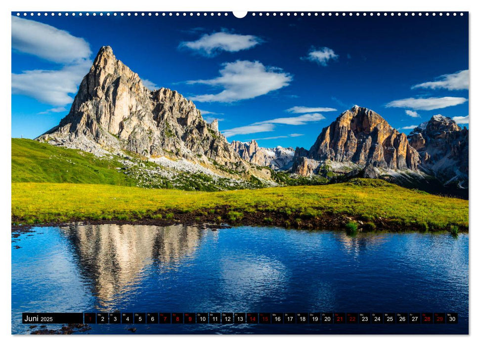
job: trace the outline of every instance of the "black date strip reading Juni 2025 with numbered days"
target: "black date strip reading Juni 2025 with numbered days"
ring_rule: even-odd
[[[456,312],[22,313],[23,324],[457,324]]]

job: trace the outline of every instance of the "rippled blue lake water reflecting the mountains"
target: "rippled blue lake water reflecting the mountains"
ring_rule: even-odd
[[[135,325],[136,333],[468,333],[468,234],[115,224],[33,231],[12,238],[15,334],[29,333],[22,312],[115,310],[459,314],[457,325]]]

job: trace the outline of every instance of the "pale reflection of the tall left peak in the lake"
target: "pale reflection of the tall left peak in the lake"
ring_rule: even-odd
[[[145,268],[175,269],[200,243],[198,227],[173,225],[78,225],[61,228],[76,252],[82,273],[91,280],[98,308],[108,310],[119,295],[143,279]]]

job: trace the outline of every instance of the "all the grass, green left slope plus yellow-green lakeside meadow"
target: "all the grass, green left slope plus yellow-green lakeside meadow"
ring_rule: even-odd
[[[377,179],[220,192],[135,187],[115,160],[12,139],[12,224],[189,220],[302,228],[350,221],[370,228],[468,228],[468,201]],[[255,217],[254,217],[255,216]]]

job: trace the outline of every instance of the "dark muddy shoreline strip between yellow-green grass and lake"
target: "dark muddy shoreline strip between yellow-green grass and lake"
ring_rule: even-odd
[[[213,213],[212,213],[213,211]],[[161,214],[160,214],[161,213]],[[450,231],[450,226],[438,227],[435,224],[419,223],[415,221],[404,222],[398,219],[389,219],[378,217],[373,220],[362,220],[362,217],[352,217],[343,214],[322,213],[319,215],[293,212],[287,215],[284,212],[266,212],[257,211],[245,213],[242,211],[232,211],[229,206],[217,207],[215,210],[196,210],[185,212],[176,209],[158,211],[157,218],[98,218],[92,219],[71,218],[61,222],[43,222],[36,224],[21,223],[12,217],[12,232],[22,232],[35,226],[65,226],[74,222],[83,222],[86,224],[131,224],[131,225],[155,225],[171,226],[175,224],[197,225],[203,228],[230,228],[233,226],[277,226],[283,228],[299,230],[347,230],[355,231],[398,231],[405,229],[412,231]],[[161,217],[158,217],[160,215]],[[468,232],[468,225],[459,225],[458,231]]]

